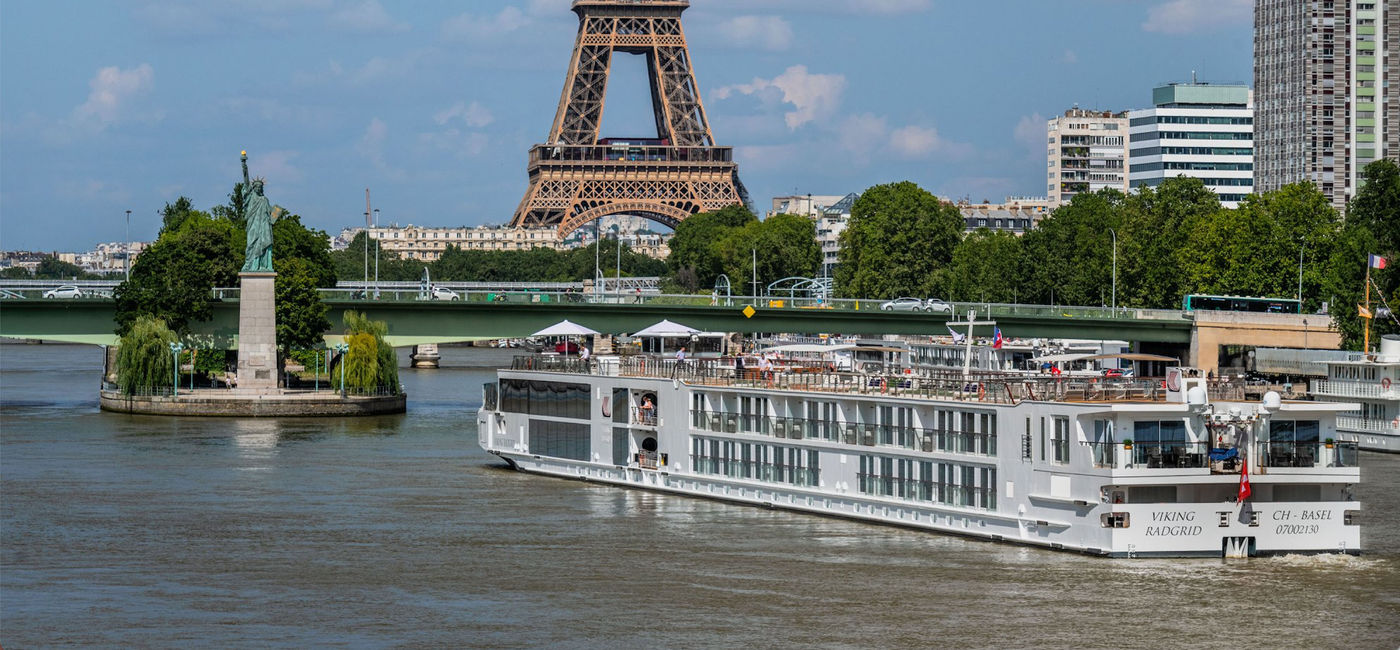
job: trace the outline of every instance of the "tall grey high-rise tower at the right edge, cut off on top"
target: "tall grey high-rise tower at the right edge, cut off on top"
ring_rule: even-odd
[[[1312,181],[1338,210],[1400,154],[1400,0],[1256,0],[1254,185]]]

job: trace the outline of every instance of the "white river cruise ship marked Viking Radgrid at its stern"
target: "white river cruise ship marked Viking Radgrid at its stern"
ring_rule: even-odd
[[[1113,558],[1361,551],[1357,447],[1334,440],[1355,405],[1246,402],[1180,368],[528,356],[483,398],[480,445],[525,472]]]

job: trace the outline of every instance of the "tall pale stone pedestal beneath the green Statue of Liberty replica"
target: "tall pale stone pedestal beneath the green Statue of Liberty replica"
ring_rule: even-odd
[[[277,392],[277,273],[238,273],[238,391]]]

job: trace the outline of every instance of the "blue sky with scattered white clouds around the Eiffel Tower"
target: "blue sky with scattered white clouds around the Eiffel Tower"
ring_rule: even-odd
[[[84,251],[160,230],[241,179],[332,234],[508,223],[549,134],[570,0],[6,0],[0,249]],[[773,196],[914,181],[1043,196],[1044,122],[1154,85],[1250,83],[1252,0],[692,0],[717,144]],[[606,136],[650,136],[640,57],[615,63]]]

